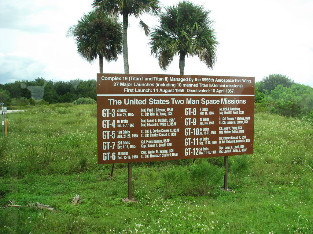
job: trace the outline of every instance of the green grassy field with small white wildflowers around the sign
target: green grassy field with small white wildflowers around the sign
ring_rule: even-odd
[[[140,202],[123,204],[127,164],[109,178],[111,165],[96,162],[96,105],[6,118],[0,233],[313,233],[313,127],[305,121],[255,115],[254,154],[229,157],[235,193],[219,189],[223,158],[133,163]]]

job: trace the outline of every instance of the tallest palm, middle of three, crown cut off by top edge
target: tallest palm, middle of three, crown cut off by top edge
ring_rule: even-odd
[[[123,16],[123,56],[124,56],[124,71],[129,74],[128,65],[128,46],[127,46],[127,28],[128,17],[133,15],[139,17],[142,13],[151,13],[157,15],[161,7],[158,0],[94,0],[92,5],[99,11],[109,11],[112,15]],[[140,20],[139,27],[143,29],[146,36],[149,34],[149,27]]]

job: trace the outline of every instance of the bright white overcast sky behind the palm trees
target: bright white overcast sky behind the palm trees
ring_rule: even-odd
[[[164,0],[162,6],[177,4]],[[253,76],[283,74],[313,86],[312,0],[193,0],[211,11],[220,45],[217,62],[208,69],[197,57],[186,58],[185,75]],[[15,80],[90,80],[99,60],[90,64],[76,52],[66,32],[89,12],[92,0],[0,0],[0,83]],[[150,27],[157,18],[143,15]],[[151,56],[148,38],[130,18],[130,73],[179,74],[179,57],[162,71]],[[124,73],[123,59],[107,63],[105,73]]]

